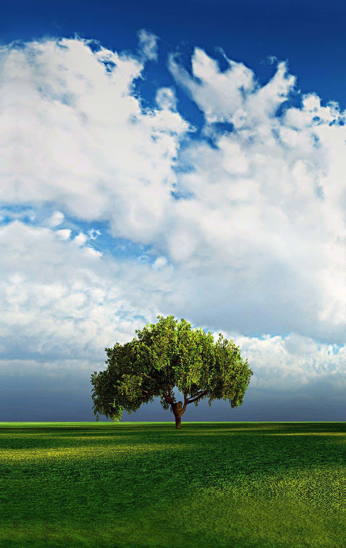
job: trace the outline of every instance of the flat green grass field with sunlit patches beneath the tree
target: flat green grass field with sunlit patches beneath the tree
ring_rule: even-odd
[[[345,423],[0,423],[1,548],[341,548]]]

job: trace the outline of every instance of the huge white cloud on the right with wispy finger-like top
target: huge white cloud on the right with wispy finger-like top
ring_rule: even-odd
[[[169,254],[199,275],[227,272],[218,287],[252,325],[249,307],[279,331],[343,341],[345,113],[314,94],[278,112],[295,83],[282,62],[263,87],[243,64],[221,71],[200,49],[192,74],[174,56],[170,70],[204,111],[214,147],[196,140],[180,155],[189,169],[178,182],[193,199],[176,204]],[[225,122],[233,130],[220,130]],[[295,319],[281,322],[286,314]]]

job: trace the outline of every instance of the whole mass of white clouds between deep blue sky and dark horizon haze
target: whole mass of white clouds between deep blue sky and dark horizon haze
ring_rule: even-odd
[[[223,54],[221,70],[196,48],[191,71],[169,59],[204,113],[191,139],[172,88],[151,109],[136,92],[157,55],[147,31],[140,44],[139,57],[78,38],[0,50],[4,359],[95,363],[174,313],[238,333],[262,389],[340,379],[345,112],[316,94],[293,107],[284,62],[260,85],[244,64]],[[8,224],[13,204],[37,226],[16,213]],[[146,250],[117,261],[83,221]]]

